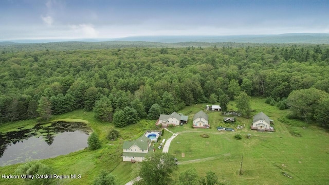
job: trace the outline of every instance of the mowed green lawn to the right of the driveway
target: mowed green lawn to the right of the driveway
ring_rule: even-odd
[[[198,111],[197,107],[203,108],[194,105],[191,108],[193,112],[189,113],[192,116],[189,123],[184,128],[172,129],[179,133],[169,149],[169,153],[180,162],[174,177],[195,168],[200,176],[211,170],[227,184],[329,184],[329,134],[317,126],[303,129],[281,123],[278,119],[284,118],[286,111],[264,101],[252,99],[251,108],[256,110],[252,114],[263,111],[275,120],[275,133],[251,131],[252,118],[242,117],[238,117],[237,122],[245,124],[243,130],[218,132],[215,127],[223,125],[223,116],[218,112],[208,113],[211,129],[191,128],[192,114]],[[233,107],[234,102],[230,106]],[[291,122],[296,123],[296,120]],[[302,122],[296,124],[305,125]],[[298,131],[301,137],[292,136],[288,128]],[[210,137],[200,137],[204,133]],[[246,138],[248,133],[251,134],[250,139]],[[241,134],[243,139],[234,139],[235,134]],[[243,175],[239,175],[242,156]],[[284,176],[282,172],[293,178]]]

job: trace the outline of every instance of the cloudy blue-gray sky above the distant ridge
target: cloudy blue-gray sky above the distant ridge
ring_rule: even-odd
[[[0,40],[329,33],[328,0],[2,0]]]

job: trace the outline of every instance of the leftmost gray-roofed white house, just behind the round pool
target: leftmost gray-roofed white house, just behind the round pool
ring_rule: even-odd
[[[188,120],[188,116],[184,116],[181,114],[177,114],[173,112],[171,115],[160,115],[159,119],[155,123],[156,125],[162,124],[163,127],[167,127],[168,125],[181,125],[186,123]]]

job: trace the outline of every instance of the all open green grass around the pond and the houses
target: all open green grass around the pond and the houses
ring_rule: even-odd
[[[223,116],[219,112],[209,112],[211,128],[191,128],[195,113],[203,110],[206,104],[196,104],[186,107],[178,113],[189,116],[188,124],[169,128],[179,135],[171,142],[169,153],[179,160],[178,174],[189,168],[195,168],[200,176],[205,176],[211,170],[218,179],[226,184],[329,184],[329,134],[316,125],[306,125],[298,120],[285,117],[286,110],[265,104],[265,99],[252,98],[251,108],[264,112],[275,121],[275,133],[260,133],[251,131],[251,118],[237,117],[237,123],[245,125],[243,130],[236,132],[218,132],[216,126],[223,126]],[[235,109],[235,102],[230,102],[229,109]],[[113,128],[112,123],[95,120],[92,112],[76,110],[71,113],[54,116],[53,120],[83,121],[96,131],[102,141],[102,147],[96,151],[88,149],[70,153],[56,158],[41,160],[51,166],[57,174],[81,174],[81,179],[65,179],[59,184],[90,184],[101,170],[107,170],[116,176],[119,184],[135,178],[136,166],[130,162],[121,162],[122,144],[124,140],[136,139],[145,131],[153,130],[155,120],[141,120],[135,125],[117,128],[121,139],[108,141],[106,134]],[[36,124],[36,120],[7,123],[0,127],[0,132],[15,130],[17,127]],[[235,126],[236,126],[235,124]],[[306,125],[306,129],[302,126]],[[226,124],[225,126],[235,127]],[[200,137],[208,134],[209,138]],[[239,133],[242,140],[234,139]],[[246,135],[250,133],[251,138]],[[296,137],[291,133],[299,133]],[[165,132],[161,139],[171,136]],[[182,153],[185,157],[182,157]],[[243,156],[243,175],[239,175],[241,157]],[[14,174],[20,164],[0,167],[0,174]],[[282,172],[293,178],[290,179]],[[22,179],[2,179],[0,184],[25,184]]]

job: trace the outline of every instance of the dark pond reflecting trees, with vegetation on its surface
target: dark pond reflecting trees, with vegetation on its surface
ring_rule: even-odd
[[[46,159],[88,146],[92,130],[81,122],[51,122],[0,133],[0,165]]]

